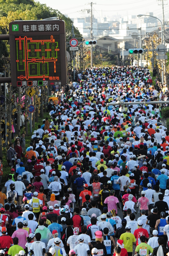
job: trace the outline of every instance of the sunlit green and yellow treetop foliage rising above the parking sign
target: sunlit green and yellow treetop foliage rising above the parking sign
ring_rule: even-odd
[[[9,22],[12,20],[41,20],[49,17],[60,17],[65,21],[66,36],[70,35],[72,20],[53,10],[46,4],[33,0],[0,0],[0,33],[9,33]],[[74,29],[76,37],[82,39],[78,29]],[[68,41],[70,38],[68,39]]]

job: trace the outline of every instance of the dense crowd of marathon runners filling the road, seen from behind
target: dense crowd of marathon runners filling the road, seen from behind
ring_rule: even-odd
[[[168,85],[139,67],[86,69],[77,80],[49,102],[29,145],[25,134],[9,145],[0,256],[165,256]],[[123,112],[107,105],[117,98]]]

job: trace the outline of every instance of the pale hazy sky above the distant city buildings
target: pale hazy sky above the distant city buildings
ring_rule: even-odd
[[[37,1],[37,0],[36,0]],[[90,9],[91,0],[39,0],[40,3],[59,10],[63,14],[67,14],[70,18],[81,17],[87,15],[87,11],[82,14],[81,10]],[[162,18],[162,6],[159,5],[160,0],[93,0],[93,14],[96,18],[107,17],[113,20],[116,16],[146,14],[153,12],[153,15]],[[159,4],[158,4],[159,3]],[[167,3],[167,0],[164,1]],[[165,17],[169,17],[169,4],[164,6]]]

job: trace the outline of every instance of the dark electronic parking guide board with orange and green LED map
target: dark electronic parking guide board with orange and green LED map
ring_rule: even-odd
[[[30,22],[32,21],[27,21],[27,24]],[[44,23],[44,21],[42,22]],[[33,21],[33,25],[21,24],[19,26],[19,22],[17,22],[19,24],[11,23],[11,30],[15,33],[14,38],[12,38],[15,39],[15,51],[11,54],[11,59],[14,59],[12,63],[15,69],[15,73],[13,72],[14,69],[13,71],[11,69],[12,85],[55,85],[56,88],[59,88],[59,86],[66,84],[66,61],[64,61],[64,59],[66,60],[66,47],[65,41],[63,44],[63,36],[60,33],[59,24],[36,24]],[[45,31],[45,27],[49,29],[49,25],[51,30]],[[22,30],[20,33],[19,28]],[[32,28],[33,30],[31,30]]]

